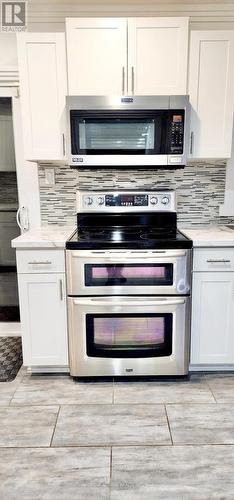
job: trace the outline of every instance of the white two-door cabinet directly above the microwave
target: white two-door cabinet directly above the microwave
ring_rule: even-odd
[[[188,18],[67,19],[70,95],[186,94]]]

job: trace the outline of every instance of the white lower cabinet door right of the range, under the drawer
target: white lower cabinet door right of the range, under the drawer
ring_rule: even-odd
[[[234,363],[234,273],[193,275],[191,364]]]

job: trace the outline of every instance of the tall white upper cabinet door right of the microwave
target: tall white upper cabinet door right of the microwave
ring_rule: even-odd
[[[189,82],[191,158],[231,156],[234,32],[192,31]]]

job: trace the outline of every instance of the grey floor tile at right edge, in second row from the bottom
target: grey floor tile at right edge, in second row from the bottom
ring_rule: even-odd
[[[233,444],[234,405],[167,405],[174,444]]]

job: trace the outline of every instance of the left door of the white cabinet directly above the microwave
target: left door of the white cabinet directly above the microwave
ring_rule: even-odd
[[[70,95],[127,92],[127,20],[67,19]]]

